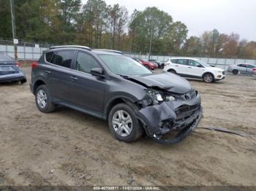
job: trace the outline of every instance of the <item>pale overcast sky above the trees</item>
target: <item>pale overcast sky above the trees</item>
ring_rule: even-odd
[[[83,4],[87,0],[82,0]],[[256,0],[105,0],[128,9],[142,11],[157,7],[181,21],[189,29],[188,36],[199,36],[216,28],[220,33],[239,34],[240,39],[256,41]]]

